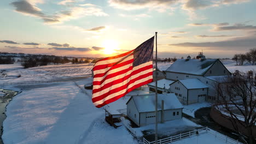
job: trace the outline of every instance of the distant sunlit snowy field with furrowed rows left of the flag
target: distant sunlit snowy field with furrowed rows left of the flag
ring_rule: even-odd
[[[8,66],[6,69],[9,69],[14,67],[14,64],[5,64],[5,66]],[[90,75],[92,66],[93,64],[60,64],[15,69],[8,71],[7,76],[0,77],[0,85],[53,82],[56,80],[71,79],[73,77]]]

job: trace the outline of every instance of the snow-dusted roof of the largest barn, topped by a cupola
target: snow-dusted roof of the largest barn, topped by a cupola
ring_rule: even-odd
[[[218,59],[177,59],[166,71],[173,73],[203,75]]]

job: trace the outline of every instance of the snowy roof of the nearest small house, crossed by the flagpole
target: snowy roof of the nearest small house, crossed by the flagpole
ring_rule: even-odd
[[[138,112],[155,111],[154,94],[132,96],[127,101],[126,105],[131,99],[134,100]],[[183,109],[182,104],[179,102],[178,98],[174,93],[158,94],[158,110],[161,110],[162,100],[164,100],[164,110]]]

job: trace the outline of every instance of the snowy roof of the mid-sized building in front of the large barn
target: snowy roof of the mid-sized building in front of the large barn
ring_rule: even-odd
[[[185,79],[185,80],[178,80],[185,86],[187,89],[199,89],[199,88],[208,88],[204,83],[202,83],[198,79]]]

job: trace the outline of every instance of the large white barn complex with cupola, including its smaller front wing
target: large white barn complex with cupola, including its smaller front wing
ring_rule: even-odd
[[[215,86],[224,83],[231,73],[219,59],[206,59],[202,52],[196,58],[188,56],[187,59],[178,59],[167,68],[166,79],[158,81],[158,93],[174,93],[182,104],[220,100]],[[191,82],[193,88],[185,87],[191,85]],[[154,83],[148,86],[150,92],[155,92]]]

